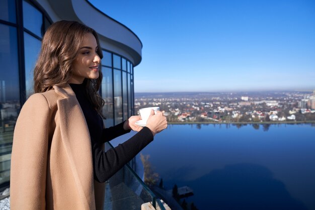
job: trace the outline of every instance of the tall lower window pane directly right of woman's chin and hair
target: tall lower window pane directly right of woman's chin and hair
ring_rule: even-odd
[[[103,70],[104,69],[104,70]],[[112,68],[102,67],[102,97],[105,100],[103,114],[106,117],[106,128],[114,125],[114,106],[113,106],[113,70]]]

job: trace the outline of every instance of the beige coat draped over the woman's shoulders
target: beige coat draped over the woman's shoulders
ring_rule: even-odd
[[[25,102],[14,132],[10,185],[13,210],[102,206],[104,185],[94,183],[89,129],[69,85]]]

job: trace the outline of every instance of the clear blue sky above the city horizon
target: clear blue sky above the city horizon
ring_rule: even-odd
[[[315,1],[90,2],[143,43],[135,92],[315,89]]]

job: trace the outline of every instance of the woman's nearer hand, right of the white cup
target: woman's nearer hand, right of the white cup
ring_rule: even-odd
[[[154,115],[154,111],[151,110],[150,116],[146,121],[146,127],[151,130],[153,136],[168,127],[168,122],[163,113],[160,111],[155,112],[156,114]]]

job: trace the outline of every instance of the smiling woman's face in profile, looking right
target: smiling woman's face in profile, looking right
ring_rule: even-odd
[[[87,33],[77,56],[72,63],[72,76],[68,83],[81,84],[85,78],[99,78],[101,59],[97,54],[98,46],[93,34]]]

